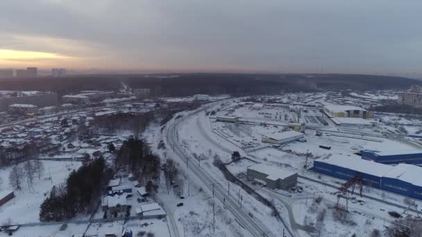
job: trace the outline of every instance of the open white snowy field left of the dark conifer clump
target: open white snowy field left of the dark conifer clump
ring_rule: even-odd
[[[38,179],[36,175],[31,186],[28,186],[25,179],[22,183],[22,191],[15,191],[15,198],[0,207],[0,223],[6,222],[8,218],[11,218],[12,222],[16,224],[39,222],[40,205],[49,195],[51,188],[65,182],[71,170],[81,166],[81,162],[78,161],[72,163],[70,161],[42,161],[42,163],[44,164],[44,173],[41,179]],[[19,166],[23,166],[23,164],[21,163]],[[13,189],[8,182],[10,170],[12,167],[0,170],[0,177],[3,181],[1,189]]]

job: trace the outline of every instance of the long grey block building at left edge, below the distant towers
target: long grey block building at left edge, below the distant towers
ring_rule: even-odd
[[[8,111],[9,105],[29,104],[37,107],[56,106],[58,97],[56,93],[33,94],[30,96],[17,96],[0,98],[0,112]]]

